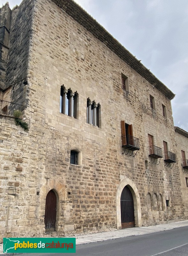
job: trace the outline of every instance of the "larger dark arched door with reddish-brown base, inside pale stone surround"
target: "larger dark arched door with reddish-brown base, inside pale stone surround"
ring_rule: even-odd
[[[131,190],[125,186],[121,193],[121,228],[135,227],[134,201]]]

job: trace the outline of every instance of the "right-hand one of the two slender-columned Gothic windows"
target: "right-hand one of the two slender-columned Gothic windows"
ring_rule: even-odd
[[[101,105],[87,99],[87,123],[101,127]]]

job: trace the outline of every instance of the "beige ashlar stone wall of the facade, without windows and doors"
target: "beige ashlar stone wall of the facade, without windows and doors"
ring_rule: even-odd
[[[24,1],[22,8],[31,8],[31,3]],[[157,165],[148,156],[148,134],[154,136],[154,145],[163,149],[164,140],[177,154],[169,98],[54,2],[33,3],[22,91],[30,129],[24,132],[13,119],[3,117],[0,132],[0,170],[6,177],[1,191],[2,236],[65,236],[121,228],[117,202],[122,184],[132,189],[136,225],[184,218],[178,165],[171,169],[163,158]],[[128,77],[129,92],[121,88],[121,73]],[[11,79],[11,73],[8,76]],[[77,119],[59,112],[63,84],[78,93]],[[88,97],[101,105],[101,127],[87,124]],[[133,125],[133,136],[139,138],[140,150],[134,157],[136,152],[131,156],[122,149],[122,120]],[[70,164],[71,150],[79,152],[78,165]],[[45,200],[51,189],[57,197],[56,228],[47,233]]]

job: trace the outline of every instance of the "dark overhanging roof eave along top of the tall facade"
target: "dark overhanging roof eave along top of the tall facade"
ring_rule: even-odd
[[[160,80],[158,80],[149,69],[147,69],[139,60],[137,60],[127,49],[124,48],[106,29],[104,29],[96,20],[72,0],[52,0],[64,12],[76,20],[80,25],[86,28],[97,39],[104,43],[120,59],[126,62],[131,68],[135,69],[150,84],[154,85],[169,100],[175,97],[175,94],[169,90]]]

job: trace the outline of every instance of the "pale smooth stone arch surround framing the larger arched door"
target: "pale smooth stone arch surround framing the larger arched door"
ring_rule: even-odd
[[[124,187],[127,186],[132,193],[132,197],[134,200],[134,216],[135,216],[135,227],[142,226],[141,220],[141,208],[140,208],[140,196],[138,193],[138,189],[136,188],[135,184],[132,180],[125,178],[122,180],[117,188],[116,193],[116,217],[117,217],[117,229],[121,229],[121,205],[120,205],[120,198],[121,193]]]

